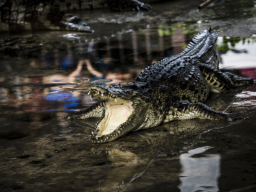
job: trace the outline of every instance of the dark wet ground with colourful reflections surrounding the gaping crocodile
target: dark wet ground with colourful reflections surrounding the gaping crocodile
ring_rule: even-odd
[[[256,86],[211,94],[236,122],[173,121],[102,145],[90,121],[62,117],[91,106],[87,88],[133,79],[212,26],[220,69],[256,79],[255,1],[152,4],[150,12],[79,11],[94,33],[0,35],[1,191],[256,191]]]

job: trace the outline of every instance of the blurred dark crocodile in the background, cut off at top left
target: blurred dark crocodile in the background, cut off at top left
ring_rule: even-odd
[[[0,0],[0,31],[74,30],[92,32],[81,18],[65,14],[67,10],[95,9],[109,6],[113,11],[150,10],[138,0]]]

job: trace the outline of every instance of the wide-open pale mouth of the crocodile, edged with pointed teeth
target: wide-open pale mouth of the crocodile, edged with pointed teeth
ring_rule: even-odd
[[[105,89],[90,88],[91,100],[94,97],[107,99],[104,104],[104,112],[102,119],[97,123],[95,132],[92,132],[92,141],[96,143],[105,140],[113,140],[121,134],[120,128],[127,121],[133,111],[132,99],[118,97],[116,94],[110,93]]]

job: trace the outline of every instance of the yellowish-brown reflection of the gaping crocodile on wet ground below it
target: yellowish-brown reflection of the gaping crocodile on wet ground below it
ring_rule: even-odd
[[[75,120],[70,122],[81,123]],[[226,126],[232,124],[225,123]],[[132,137],[129,137],[129,140],[126,139],[127,137],[121,138],[114,146],[107,145],[102,148],[93,145],[93,153],[96,156],[107,153],[108,160],[113,165],[105,179],[99,180],[99,191],[123,191],[133,180],[147,172],[151,163],[160,156],[172,157],[187,152],[200,141],[203,132],[221,126],[223,122],[209,122],[203,119],[177,121],[147,131],[139,131],[136,134],[130,133]],[[140,142],[136,142],[138,140]],[[172,177],[162,178],[162,182],[179,182],[179,171],[174,171],[180,167],[179,161],[171,161],[170,164]],[[148,186],[150,185],[148,183]]]

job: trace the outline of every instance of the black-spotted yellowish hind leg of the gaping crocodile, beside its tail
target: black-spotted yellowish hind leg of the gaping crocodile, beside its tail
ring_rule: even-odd
[[[199,64],[199,68],[210,88],[210,92],[230,92],[234,87],[251,84],[252,78],[244,78],[229,72],[219,70],[205,64]]]

